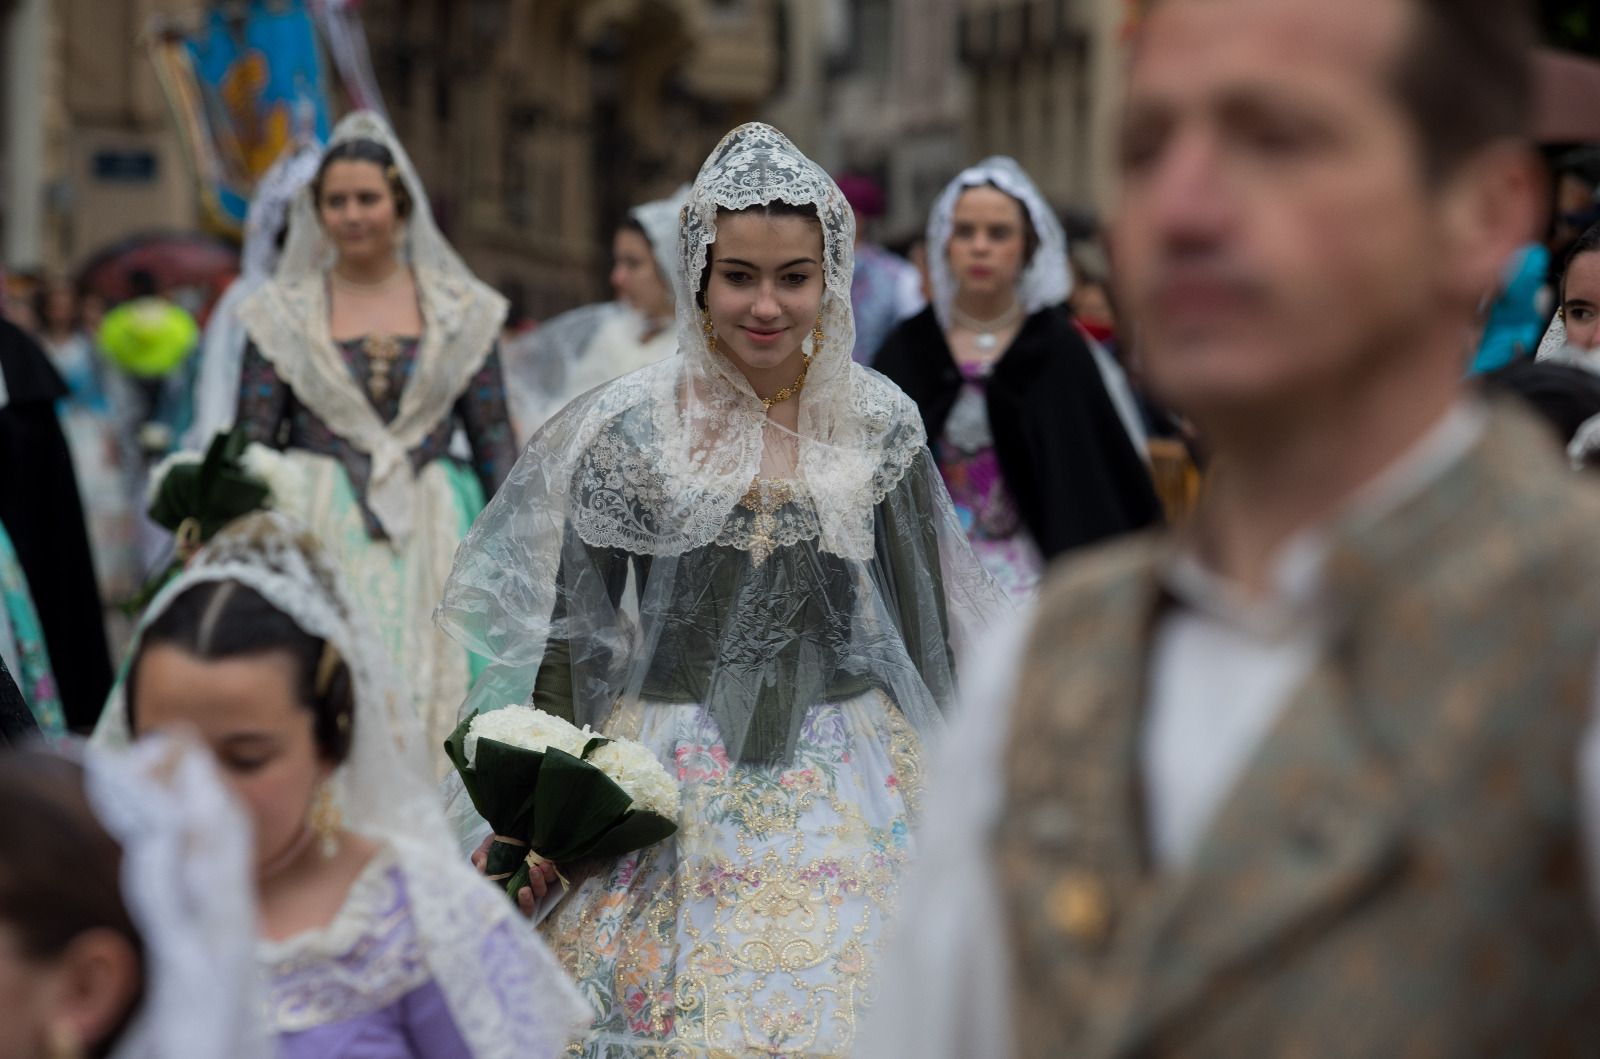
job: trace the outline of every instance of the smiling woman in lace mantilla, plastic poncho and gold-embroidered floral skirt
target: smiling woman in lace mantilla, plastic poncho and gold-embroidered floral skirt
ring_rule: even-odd
[[[474,526],[440,609],[533,701],[640,739],[682,829],[568,865],[542,929],[587,1053],[843,1056],[910,854],[954,653],[1003,606],[917,410],[851,362],[853,218],[766,125],[682,213],[678,355],[579,398]]]

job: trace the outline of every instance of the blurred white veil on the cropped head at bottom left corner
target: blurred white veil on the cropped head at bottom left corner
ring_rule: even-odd
[[[62,747],[122,848],[122,896],[144,942],[144,997],[112,1059],[272,1054],[259,1017],[250,821],[187,739]]]

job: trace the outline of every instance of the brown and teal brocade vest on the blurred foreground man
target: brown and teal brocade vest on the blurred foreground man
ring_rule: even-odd
[[[1178,872],[1139,803],[1170,555],[1117,544],[1040,598],[995,848],[1018,1054],[1600,1056],[1590,482],[1494,410],[1422,494],[1336,530],[1323,651]]]

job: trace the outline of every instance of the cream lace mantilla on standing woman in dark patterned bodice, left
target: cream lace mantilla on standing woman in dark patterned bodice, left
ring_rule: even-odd
[[[371,458],[368,509],[392,539],[403,541],[411,533],[416,506],[410,451],[450,414],[494,350],[507,304],[480,283],[445,242],[422,181],[394,130],[376,114],[357,110],[339,122],[328,149],[355,139],[389,150],[411,198],[400,254],[416,275],[424,333],[416,370],[400,395],[400,411],[384,422],[333,344],[325,275],[336,248],[317,218],[309,186],[294,197],[288,245],[274,282],[248,298],[238,317],[296,398]]]

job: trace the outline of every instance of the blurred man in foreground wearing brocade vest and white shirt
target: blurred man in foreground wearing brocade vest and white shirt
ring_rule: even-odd
[[[1600,1054],[1600,501],[1461,381],[1539,218],[1530,45],[1149,5],[1117,290],[1213,478],[965,673],[864,1054]]]

